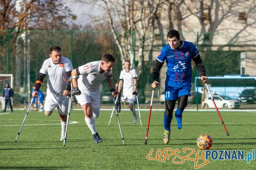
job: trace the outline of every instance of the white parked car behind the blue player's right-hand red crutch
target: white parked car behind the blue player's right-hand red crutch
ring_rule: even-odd
[[[239,100],[231,99],[228,96],[214,95],[214,96],[212,96],[212,98],[214,98],[215,104],[218,109],[219,108],[222,108],[222,109],[240,108]],[[215,108],[214,102],[212,102],[211,97],[205,98],[202,105],[204,108]]]

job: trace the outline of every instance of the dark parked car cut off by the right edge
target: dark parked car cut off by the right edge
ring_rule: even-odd
[[[244,89],[238,99],[241,103],[254,103],[256,100],[256,89]]]

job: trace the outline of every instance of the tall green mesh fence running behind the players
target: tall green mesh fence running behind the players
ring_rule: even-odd
[[[226,74],[249,74],[249,68],[255,68],[254,62],[245,63],[246,59],[242,57],[242,53],[250,53],[256,51],[253,45],[254,40],[249,43],[248,41],[239,41],[241,37],[247,35],[240,35],[237,42],[234,42],[233,37],[228,33],[198,33],[198,32],[181,32],[182,40],[193,42],[199,49],[200,55],[206,68],[208,76],[226,75]],[[153,49],[153,60],[155,60],[160,49],[167,43],[159,39],[160,34],[155,34],[155,42]],[[166,35],[166,33],[161,34]],[[138,38],[137,38],[138,39]],[[163,37],[166,40],[166,37]],[[225,40],[225,41],[223,41]],[[138,60],[138,40],[135,36],[135,55]],[[147,41],[147,40],[146,40]],[[251,44],[251,46],[250,46]],[[255,43],[256,44],[256,43]],[[29,94],[32,86],[34,85],[36,75],[38,74],[42,63],[49,57],[48,50],[52,46],[59,46],[62,48],[63,56],[68,57],[74,68],[86,64],[90,61],[100,60],[101,56],[105,53],[111,53],[115,56],[117,62],[113,68],[114,81],[119,79],[120,71],[123,69],[120,59],[120,53],[117,45],[115,45],[113,35],[109,31],[96,31],[96,30],[0,30],[0,73],[14,75],[14,92],[19,93],[26,98],[30,98]],[[144,62],[148,64],[147,58],[149,51],[147,45],[144,51]],[[251,58],[252,59],[252,58]],[[138,62],[135,62],[137,64]],[[152,82],[152,66],[145,70],[146,74],[138,81],[141,87],[138,89],[143,90],[143,96],[146,98],[151,95],[151,82]],[[251,74],[253,75],[253,73]],[[196,66],[192,62],[192,89],[196,91],[197,82],[195,77],[198,76]],[[161,88],[155,93],[159,97],[164,91],[164,68],[161,70]],[[46,92],[46,79],[41,87],[43,92]],[[230,80],[231,81],[231,80]],[[255,87],[256,84],[232,84],[233,87],[240,87],[240,90],[246,87]],[[223,84],[225,87],[229,85]],[[2,87],[1,87],[2,89]],[[102,83],[102,93],[108,90],[107,84]],[[242,92],[242,91],[241,91]],[[239,92],[239,93],[241,93]],[[139,93],[142,93],[139,91]],[[220,93],[227,95],[227,93]],[[239,96],[237,96],[237,99]],[[200,100],[200,99],[199,99]],[[255,98],[256,100],[256,98]],[[198,102],[198,101],[197,101]]]

